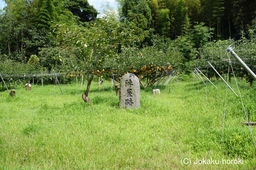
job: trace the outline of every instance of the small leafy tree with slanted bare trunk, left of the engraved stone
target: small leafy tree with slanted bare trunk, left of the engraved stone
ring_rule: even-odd
[[[84,70],[87,77],[87,87],[83,94],[85,102],[89,102],[88,93],[92,79],[104,61],[118,53],[122,46],[133,45],[143,39],[134,35],[134,29],[126,23],[101,18],[88,23],[87,27],[68,29],[65,25],[54,26],[56,43],[63,48],[74,46],[80,51],[80,65],[76,68]],[[83,62],[82,62],[83,61]]]

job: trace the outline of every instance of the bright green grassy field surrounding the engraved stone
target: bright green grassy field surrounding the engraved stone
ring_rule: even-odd
[[[141,90],[139,109],[120,109],[107,82],[90,90],[91,105],[76,84],[0,92],[0,169],[254,169],[256,148],[240,98],[213,81],[172,82],[154,96]],[[232,87],[238,93],[234,80]],[[246,111],[256,121],[256,88],[239,81]],[[85,88],[85,87],[84,87]],[[56,92],[56,98],[54,97]],[[256,137],[256,129],[252,128]],[[244,164],[191,164],[181,159],[238,159]]]

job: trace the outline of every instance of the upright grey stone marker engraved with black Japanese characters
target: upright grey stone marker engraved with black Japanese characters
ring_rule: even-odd
[[[122,77],[119,101],[121,108],[140,107],[140,80],[135,74],[127,73]]]

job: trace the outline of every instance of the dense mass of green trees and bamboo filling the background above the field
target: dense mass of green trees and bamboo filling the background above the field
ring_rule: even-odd
[[[221,47],[256,43],[255,0],[117,0],[118,10],[105,2],[100,13],[87,0],[5,2],[2,72],[75,70],[93,78],[120,68],[117,78],[137,70],[143,78],[170,63],[170,70],[188,74],[206,59],[220,59],[213,54]],[[218,68],[224,73],[225,66]]]

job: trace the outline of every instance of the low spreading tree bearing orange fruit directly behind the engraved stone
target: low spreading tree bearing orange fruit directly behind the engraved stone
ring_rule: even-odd
[[[146,88],[148,85],[153,86],[163,71],[165,71],[164,76],[171,74],[171,72],[179,74],[176,70],[180,70],[182,59],[181,53],[172,48],[161,51],[156,47],[144,47],[142,49],[129,47],[122,49],[122,53],[117,57],[108,58],[103,66],[104,72],[99,70],[96,74],[97,76],[102,74],[108,77],[114,76],[114,79],[119,82],[124,74],[131,72],[139,78],[140,84]]]

